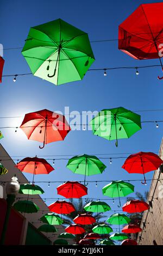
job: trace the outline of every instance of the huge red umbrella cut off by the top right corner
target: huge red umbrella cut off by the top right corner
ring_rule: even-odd
[[[119,26],[118,48],[134,59],[159,58],[162,67],[162,12],[163,3],[141,4]]]

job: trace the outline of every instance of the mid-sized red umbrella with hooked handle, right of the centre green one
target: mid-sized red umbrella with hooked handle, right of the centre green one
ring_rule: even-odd
[[[130,155],[124,162],[122,168],[127,170],[128,173],[142,173],[145,178],[145,173],[156,170],[163,163],[160,157],[151,152],[139,152]],[[142,182],[142,184],[146,184]]]

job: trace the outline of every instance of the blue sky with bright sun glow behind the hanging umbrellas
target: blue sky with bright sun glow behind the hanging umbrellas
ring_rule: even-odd
[[[152,3],[161,1],[146,1]],[[118,25],[125,20],[142,2],[137,1],[4,1],[1,0],[0,23],[1,41],[4,48],[22,47],[27,38],[29,28],[52,21],[58,18],[87,32],[91,41],[117,39]],[[137,66],[159,64],[159,60],[135,60],[118,50],[117,41],[92,42],[91,44],[96,61],[91,68],[109,68],[113,66]],[[21,50],[4,51],[4,75],[21,74],[30,72]],[[149,109],[162,109],[162,81],[157,80],[161,75],[159,68],[141,69],[139,76],[135,70],[110,70],[107,76],[103,71],[88,71],[83,81],[54,86],[52,83],[42,81],[34,76],[17,77],[16,83],[13,77],[4,77],[1,86],[1,117],[21,116],[21,118],[1,119],[3,126],[19,126],[25,113],[47,108],[51,111],[64,111],[64,107],[70,107],[70,111],[101,111],[104,108],[123,106],[131,111]],[[162,112],[139,112],[143,121],[163,120]],[[162,138],[162,124],[156,129],[155,124],[142,124],[142,130],[130,139],[119,141],[118,148],[115,142],[109,142],[103,138],[93,136],[91,131],[72,131],[68,133],[64,142],[55,142],[39,149],[39,142],[28,141],[21,130],[15,133],[15,129],[2,129],[4,138],[1,140],[3,147],[11,156],[47,156],[47,155],[78,155],[92,154],[103,157],[128,156],[127,153],[139,151],[158,152]],[[13,157],[21,160],[22,157]],[[48,158],[48,157],[45,157]],[[49,157],[53,158],[53,157]],[[59,158],[55,156],[54,158]],[[68,156],[67,156],[68,158]],[[49,161],[51,164],[53,161]],[[124,159],[103,160],[107,166],[101,175],[89,176],[87,180],[131,180],[141,179],[140,174],[128,174],[121,168]],[[49,175],[37,175],[35,180],[83,180],[82,175],[73,174],[66,169],[66,160],[55,161],[55,170]],[[146,177],[151,179],[153,172]],[[32,175],[26,175],[32,180]],[[132,183],[132,182],[131,182]],[[95,186],[88,186],[88,197],[106,198],[102,195],[101,188],[106,185],[103,182]],[[133,182],[135,191],[143,192],[149,188],[143,186],[140,181]],[[56,187],[60,184],[40,184],[45,190],[43,197],[57,197]],[[134,196],[134,194],[131,196]],[[61,198],[59,196],[59,198]],[[109,201],[106,201],[109,202]],[[52,201],[46,200],[47,205]],[[125,200],[122,200],[122,204]],[[118,201],[112,210],[117,210]],[[119,209],[118,209],[119,210]],[[110,213],[108,212],[108,216]]]

